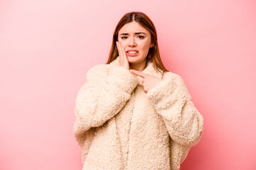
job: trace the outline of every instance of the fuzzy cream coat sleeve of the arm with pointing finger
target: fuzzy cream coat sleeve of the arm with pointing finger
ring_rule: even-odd
[[[163,81],[150,89],[146,96],[166,124],[174,142],[186,147],[196,145],[203,134],[203,116],[194,106],[183,79],[165,72]]]

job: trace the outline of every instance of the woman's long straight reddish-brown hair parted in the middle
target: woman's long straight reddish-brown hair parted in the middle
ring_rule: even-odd
[[[139,23],[146,30],[149,30],[149,33],[151,34],[151,43],[154,44],[154,47],[149,48],[149,53],[146,56],[146,62],[148,61],[152,62],[155,69],[159,68],[164,72],[169,72],[164,67],[164,64],[161,62],[159,46],[157,43],[156,28],[154,27],[154,23],[150,20],[148,16],[146,16],[146,14],[142,12],[136,12],[136,11],[124,14],[124,16],[120,19],[119,23],[117,23],[117,26],[114,30],[110,55],[106,64],[110,64],[110,62],[115,60],[116,57],[119,55],[117,50],[117,44],[116,44],[116,41],[118,40],[118,32],[122,28],[122,26],[132,21],[136,21],[137,23]]]

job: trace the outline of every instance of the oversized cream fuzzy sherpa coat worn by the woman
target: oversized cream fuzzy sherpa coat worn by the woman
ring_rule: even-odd
[[[83,170],[177,170],[201,140],[203,116],[183,79],[151,62],[142,72],[163,81],[145,94],[142,77],[120,67],[119,57],[88,70],[73,127]]]

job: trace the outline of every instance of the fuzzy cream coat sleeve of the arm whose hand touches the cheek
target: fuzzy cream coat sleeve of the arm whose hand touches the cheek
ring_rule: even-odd
[[[97,64],[87,71],[85,84],[75,100],[73,133],[80,147],[92,127],[103,125],[116,115],[137,86],[137,77],[124,67]]]

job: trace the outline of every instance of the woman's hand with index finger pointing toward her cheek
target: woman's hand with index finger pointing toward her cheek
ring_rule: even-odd
[[[143,78],[142,87],[143,87],[145,93],[147,93],[150,89],[152,89],[154,86],[156,86],[156,84],[158,84],[160,81],[163,81],[163,79],[159,79],[159,78],[151,76],[149,74],[144,74],[143,72],[139,72],[135,69],[130,69],[130,72]]]

